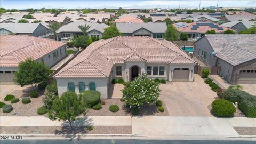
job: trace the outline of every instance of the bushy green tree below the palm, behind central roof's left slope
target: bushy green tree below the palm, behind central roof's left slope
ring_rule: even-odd
[[[73,46],[74,47],[81,47],[86,48],[92,43],[92,39],[89,39],[86,35],[80,35],[73,39]]]

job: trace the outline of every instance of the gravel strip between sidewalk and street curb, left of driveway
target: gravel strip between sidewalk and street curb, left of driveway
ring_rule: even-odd
[[[132,134],[132,126],[1,126],[0,134]]]

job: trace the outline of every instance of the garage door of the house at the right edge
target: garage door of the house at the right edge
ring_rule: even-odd
[[[256,83],[256,70],[241,70],[239,73],[238,83],[240,84]]]

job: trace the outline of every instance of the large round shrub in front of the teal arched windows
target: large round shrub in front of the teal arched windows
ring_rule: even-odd
[[[85,101],[90,103],[91,107],[100,102],[100,92],[98,91],[85,91],[83,97]]]

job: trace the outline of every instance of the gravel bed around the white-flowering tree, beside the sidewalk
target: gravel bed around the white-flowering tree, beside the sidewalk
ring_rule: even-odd
[[[129,109],[124,106],[124,102],[121,102],[120,99],[107,99],[102,101],[105,101],[106,104],[102,105],[102,108],[100,110],[90,109],[86,116],[132,116]],[[109,111],[110,105],[119,106],[119,111],[117,111],[116,113]],[[169,116],[168,110],[164,102],[163,107],[165,109],[163,113],[159,112],[157,110],[157,106],[155,105],[143,107],[140,109],[140,114],[137,116]]]

